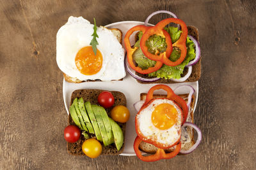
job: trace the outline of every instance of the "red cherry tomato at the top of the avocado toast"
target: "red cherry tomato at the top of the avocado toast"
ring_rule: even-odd
[[[98,103],[104,108],[110,108],[115,103],[115,99],[111,92],[101,92],[98,96]]]

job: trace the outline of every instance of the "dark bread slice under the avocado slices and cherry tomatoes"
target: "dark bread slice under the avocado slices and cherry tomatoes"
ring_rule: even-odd
[[[98,90],[98,89],[75,90],[74,92],[72,92],[70,105],[73,103],[73,101],[74,101],[74,99],[76,99],[76,97],[78,97],[78,98],[83,97],[84,102],[90,101],[91,104],[97,104],[98,96],[99,96],[100,92],[103,92],[103,91],[105,91],[105,90]],[[112,110],[113,107],[115,107],[117,105],[126,106],[126,98],[122,92],[111,91],[111,93],[115,97],[115,104],[111,108],[106,109],[108,115],[110,114],[110,111]],[[116,123],[121,127],[123,134],[124,134],[124,139],[125,139],[125,125],[126,124],[121,124],[119,122],[116,122]],[[68,115],[68,125],[75,125],[70,114]],[[76,143],[67,143],[68,153],[71,153],[72,155],[84,155],[84,153],[82,151],[82,145],[83,145],[84,141],[85,141],[84,136],[81,135],[81,138]],[[101,155],[119,155],[124,150],[124,145],[118,151],[116,149],[115,143],[113,143],[109,146],[104,146],[103,143],[101,143],[101,144],[102,144]]]

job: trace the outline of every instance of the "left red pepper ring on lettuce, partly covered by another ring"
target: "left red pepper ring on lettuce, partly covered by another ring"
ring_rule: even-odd
[[[163,66],[163,62],[157,61],[154,67],[149,67],[148,69],[141,69],[141,67],[135,66],[133,62],[132,54],[138,49],[138,47],[132,48],[129,38],[134,31],[142,31],[144,34],[145,31],[147,31],[149,28],[150,27],[146,27],[145,25],[137,25],[129,29],[129,31],[126,32],[124,37],[124,45],[127,50],[127,60],[128,60],[129,66],[132,69],[134,69],[134,71],[137,71],[138,73],[141,73],[141,74],[152,73],[154,71],[157,71]]]

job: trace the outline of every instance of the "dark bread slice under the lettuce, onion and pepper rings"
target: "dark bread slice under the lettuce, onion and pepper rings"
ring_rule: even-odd
[[[188,26],[188,35],[193,36],[193,38],[195,38],[199,42],[199,32],[198,32],[198,29],[196,27]],[[136,34],[135,39],[136,39],[136,41],[138,41],[138,34]],[[202,56],[200,56],[200,60],[198,62],[196,62],[196,64],[194,66],[192,66],[192,73],[189,76],[189,78],[184,82],[193,82],[193,81],[198,81],[200,79],[200,76],[201,76],[201,59],[202,59]],[[184,76],[186,73],[188,73],[188,68],[185,67],[182,76]],[[143,77],[143,78],[152,78],[152,77],[149,77],[148,74],[140,74],[138,72],[136,72],[136,74],[138,76]],[[179,83],[179,82],[175,82],[175,81],[172,81],[172,80],[167,80],[167,79],[164,79],[164,78],[160,78],[159,80],[153,81],[153,82],[145,82],[145,81],[140,81],[140,80],[137,80],[137,81],[139,83],[144,83],[144,84],[146,84],[146,83]]]

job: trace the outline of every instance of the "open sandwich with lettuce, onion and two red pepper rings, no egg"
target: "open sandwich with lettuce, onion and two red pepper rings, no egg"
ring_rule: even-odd
[[[155,26],[148,20],[157,13],[168,13]],[[177,24],[177,27],[167,26]],[[131,46],[133,32],[136,43]],[[137,25],[127,31],[124,38],[127,71],[140,83],[173,83],[197,81],[201,74],[198,30],[188,26],[170,11],[156,11],[149,15],[145,25]]]

